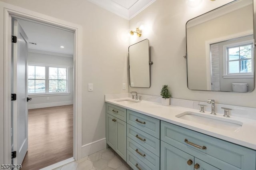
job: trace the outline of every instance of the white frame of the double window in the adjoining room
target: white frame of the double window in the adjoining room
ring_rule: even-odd
[[[28,93],[28,96],[33,96],[33,97],[43,97],[43,96],[55,96],[55,95],[70,95],[69,92],[69,69],[68,66],[66,65],[49,65],[49,64],[37,64],[37,63],[28,63],[28,66],[41,66],[45,67],[45,93]],[[67,85],[67,91],[66,92],[54,92],[50,93],[49,92],[49,67],[55,67],[55,68],[65,68],[66,69],[66,85]],[[28,79],[27,79],[28,80]],[[28,89],[27,89],[28,90]]]

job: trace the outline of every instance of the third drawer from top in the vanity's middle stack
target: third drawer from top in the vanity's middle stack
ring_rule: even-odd
[[[138,159],[144,162],[152,170],[159,170],[160,158],[129,137],[127,137],[127,150],[136,155]]]

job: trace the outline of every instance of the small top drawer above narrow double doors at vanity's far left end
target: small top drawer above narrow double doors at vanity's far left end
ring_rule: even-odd
[[[106,112],[124,122],[126,122],[126,109],[106,103]]]

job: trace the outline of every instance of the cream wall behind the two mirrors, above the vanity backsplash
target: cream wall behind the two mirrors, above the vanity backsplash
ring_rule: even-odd
[[[160,96],[163,84],[170,86],[172,97],[196,101],[215,99],[216,103],[256,107],[256,91],[251,93],[232,93],[216,91],[192,91],[187,87],[186,59],[186,22],[204,14],[230,0],[203,1],[201,6],[191,8],[184,1],[157,0],[148,8],[130,20],[130,29],[134,30],[138,22],[144,22],[142,36],[132,36],[130,44],[149,39],[152,84],[150,88],[129,88],[129,91]]]

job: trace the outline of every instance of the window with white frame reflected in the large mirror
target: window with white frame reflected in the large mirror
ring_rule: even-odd
[[[223,46],[224,78],[243,78],[253,75],[253,41],[244,41]]]

